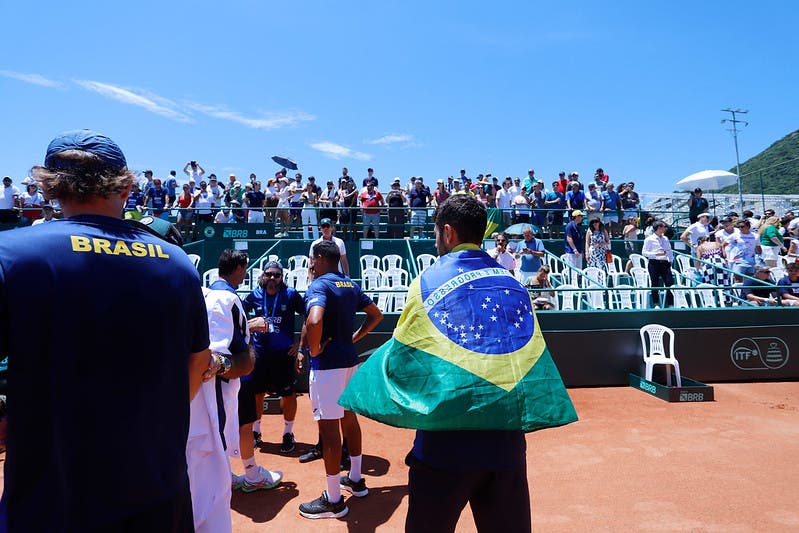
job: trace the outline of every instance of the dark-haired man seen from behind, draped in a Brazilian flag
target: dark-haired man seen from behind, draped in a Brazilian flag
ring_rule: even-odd
[[[414,280],[394,336],[339,403],[417,430],[407,531],[530,531],[525,432],[577,415],[524,287],[480,249],[486,210],[451,196],[435,213],[439,260]]]

